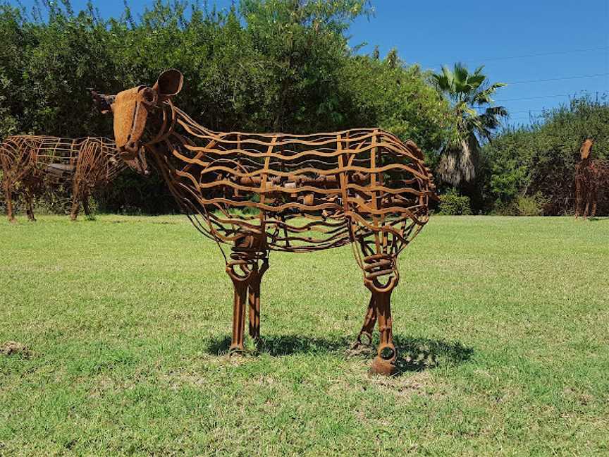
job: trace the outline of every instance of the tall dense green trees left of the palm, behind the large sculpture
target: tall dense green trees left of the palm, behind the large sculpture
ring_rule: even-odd
[[[44,1],[32,13],[0,6],[0,135],[112,137],[87,87],[116,93],[152,84],[166,68],[185,75],[176,104],[214,130],[310,133],[381,126],[428,154],[445,142],[448,104],[397,52],[358,56],[347,28],[366,0],[243,0],[219,12],[157,0],[134,18],[104,20],[90,5]],[[435,157],[430,157],[432,160]],[[177,210],[164,185],[128,173],[100,209]]]

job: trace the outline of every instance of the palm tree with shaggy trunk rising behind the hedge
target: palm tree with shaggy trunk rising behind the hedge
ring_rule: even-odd
[[[441,181],[461,187],[465,193],[475,188],[481,142],[490,141],[501,118],[508,116],[505,107],[492,106],[493,94],[505,83],[488,83],[483,68],[479,66],[470,73],[462,63],[455,63],[453,71],[443,66],[441,73],[431,75],[437,90],[453,104],[457,133],[443,147],[436,173]]]

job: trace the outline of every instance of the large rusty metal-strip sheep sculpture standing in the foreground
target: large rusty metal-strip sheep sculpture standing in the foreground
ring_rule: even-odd
[[[168,70],[152,87],[92,94],[102,112],[113,113],[121,157],[142,172],[146,159],[154,162],[195,227],[220,248],[232,246],[224,256],[234,287],[230,351],[243,349],[247,303],[250,335],[260,336],[260,284],[269,251],[352,243],[371,291],[354,347],[371,344],[378,321],[371,371],[392,373],[398,353],[390,295],[399,279],[397,257],[426,224],[435,197],[422,152],[380,128],[312,135],[214,132],[171,102],[182,83],[179,71]]]

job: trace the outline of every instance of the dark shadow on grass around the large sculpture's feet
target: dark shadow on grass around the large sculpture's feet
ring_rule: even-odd
[[[474,353],[473,348],[463,346],[461,343],[444,340],[414,338],[412,336],[393,337],[395,348],[398,350],[396,375],[404,372],[419,372],[439,365],[456,365],[466,362]],[[251,355],[266,353],[273,356],[292,355],[297,353],[338,353],[350,357],[372,359],[376,355],[378,338],[371,346],[354,352],[350,351],[352,341],[347,338],[324,339],[302,335],[269,335],[263,336],[257,348],[247,351]],[[207,346],[207,353],[220,355],[228,353],[230,337],[212,340]]]

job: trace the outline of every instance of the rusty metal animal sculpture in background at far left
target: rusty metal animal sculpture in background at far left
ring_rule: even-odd
[[[0,162],[9,221],[15,221],[13,196],[16,193],[23,192],[27,217],[35,221],[35,195],[61,185],[71,186],[70,219],[76,219],[81,204],[88,216],[92,190],[107,185],[125,169],[114,142],[107,138],[14,135],[0,145]]]

